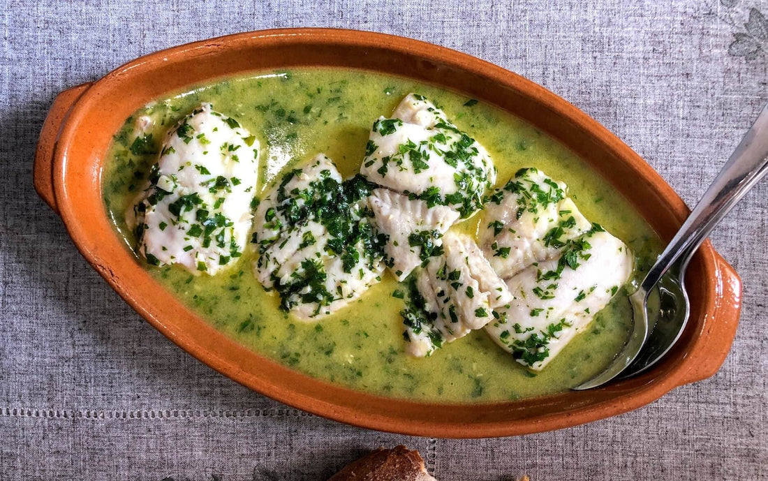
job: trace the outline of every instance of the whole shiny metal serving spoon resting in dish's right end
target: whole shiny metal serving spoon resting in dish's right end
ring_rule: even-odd
[[[624,349],[598,376],[574,390],[601,386],[621,375],[633,376],[653,366],[670,350],[688,321],[690,305],[684,288],[685,269],[707,235],[741,197],[768,173],[768,104],[741,139],[730,159],[690,213],[680,231],[630,296],[634,328]],[[666,274],[666,275],[665,275]],[[648,299],[654,290],[659,310],[649,335]]]

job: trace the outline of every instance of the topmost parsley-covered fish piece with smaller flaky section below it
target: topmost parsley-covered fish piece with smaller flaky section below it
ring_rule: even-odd
[[[379,230],[389,234],[388,266],[399,280],[422,264],[425,250],[440,247],[452,224],[482,208],[496,179],[485,148],[415,94],[392,118],[374,122],[360,174],[383,187],[371,207]],[[422,221],[409,222],[415,215]]]

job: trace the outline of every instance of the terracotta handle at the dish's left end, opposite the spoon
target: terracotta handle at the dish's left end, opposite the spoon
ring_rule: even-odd
[[[83,95],[83,92],[91,86],[91,82],[81,84],[76,87],[68,88],[62,91],[53,101],[51,110],[48,111],[48,117],[45,118],[43,128],[40,131],[38,139],[38,148],[35,151],[35,167],[32,169],[32,177],[35,184],[35,191],[48,204],[53,211],[58,214],[58,205],[53,190],[53,163],[56,151],[56,142],[58,134],[61,131],[61,125],[69,114],[69,111]]]

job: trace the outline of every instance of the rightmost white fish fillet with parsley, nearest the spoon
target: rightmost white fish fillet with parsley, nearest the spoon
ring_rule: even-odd
[[[623,242],[589,231],[570,241],[561,256],[508,279],[510,307],[485,330],[519,363],[541,370],[607,306],[633,268]]]

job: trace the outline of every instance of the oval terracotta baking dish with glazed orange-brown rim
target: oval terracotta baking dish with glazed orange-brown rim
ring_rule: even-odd
[[[688,270],[690,323],[664,362],[596,390],[473,406],[371,396],[306,377],[214,330],[147,274],[113,231],[101,200],[112,135],[154,98],[215,78],[307,65],[362,68],[441,85],[524,118],[558,138],[670,239],[688,214],[672,188],[588,115],[510,71],[447,48],[390,35],[298,28],[243,33],[159,51],[61,92],[43,126],[35,188],[61,215],[88,262],[157,330],[233,380],[290,406],[376,430],[421,436],[509,436],[633,410],[719,369],[736,333],[740,278],[707,241]]]

